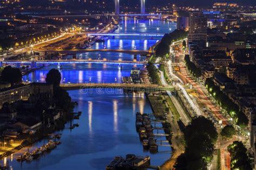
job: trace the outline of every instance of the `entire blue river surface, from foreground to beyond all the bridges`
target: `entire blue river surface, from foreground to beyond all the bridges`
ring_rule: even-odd
[[[146,29],[145,29],[146,27]],[[122,28],[122,29],[121,29]],[[134,28],[134,29],[133,29]],[[159,30],[157,30],[159,28]],[[120,22],[119,29],[115,32],[145,32],[145,33],[167,33],[169,29],[174,30],[176,24],[161,20],[134,20],[126,19]],[[113,49],[148,49],[160,37],[109,37],[103,43],[97,43],[92,48],[113,48]],[[80,54],[82,58],[98,58],[99,53]],[[133,56],[122,53],[100,53],[102,58],[116,60],[133,60]],[[89,82],[121,82],[122,76],[129,76],[132,67],[142,67],[135,65],[123,65],[122,70],[117,69],[114,64],[72,64],[63,65],[62,82],[84,83]],[[29,75],[25,75],[23,80],[44,82],[46,73],[56,65],[44,67]],[[161,165],[171,156],[171,148],[159,146],[159,152],[151,154],[144,151],[139,140],[135,127],[136,112],[152,113],[149,101],[144,94],[126,95],[122,90],[113,91],[69,91],[73,101],[78,105],[75,111],[82,111],[79,120],[79,127],[70,130],[63,130],[62,144],[57,146],[50,153],[42,155],[32,162],[16,161],[18,154],[25,152],[28,148],[5,158],[2,161],[9,161],[11,169],[105,169],[105,166],[115,155],[132,153],[137,155],[150,155],[151,165]],[[68,126],[68,124],[67,124]],[[161,126],[158,124],[158,126]],[[157,133],[154,131],[154,133]],[[159,133],[163,131],[159,130]],[[157,137],[158,140],[165,140],[165,137]],[[29,147],[34,148],[47,143],[48,139],[38,141]]]

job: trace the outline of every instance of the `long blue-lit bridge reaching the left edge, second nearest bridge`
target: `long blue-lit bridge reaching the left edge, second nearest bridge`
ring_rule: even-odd
[[[144,65],[146,61],[122,61],[122,60],[5,60],[5,64],[31,64],[31,67],[36,67],[37,64],[70,64],[70,63],[109,63],[109,64],[122,64],[122,65]]]

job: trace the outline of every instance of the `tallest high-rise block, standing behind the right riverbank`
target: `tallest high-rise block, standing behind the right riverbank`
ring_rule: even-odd
[[[207,40],[207,18],[204,17],[203,12],[190,12],[188,19],[188,43],[203,41],[206,45]]]

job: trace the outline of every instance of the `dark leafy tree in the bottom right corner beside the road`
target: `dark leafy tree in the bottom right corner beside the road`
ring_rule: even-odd
[[[234,141],[227,147],[231,156],[231,168],[240,170],[250,170],[251,161],[247,154],[247,149],[241,141]]]

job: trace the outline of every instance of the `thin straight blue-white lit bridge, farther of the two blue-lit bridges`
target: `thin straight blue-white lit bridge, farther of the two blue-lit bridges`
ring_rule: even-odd
[[[163,37],[160,33],[87,33],[87,36],[140,36],[140,37]]]

